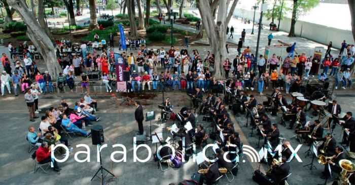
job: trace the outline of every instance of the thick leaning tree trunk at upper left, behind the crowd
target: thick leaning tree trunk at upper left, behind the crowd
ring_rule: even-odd
[[[24,1],[9,0],[8,3],[16,10],[23,22],[27,25],[27,36],[33,42],[34,47],[36,47],[43,56],[49,73],[56,79],[62,69],[58,64],[51,39],[32,16]]]

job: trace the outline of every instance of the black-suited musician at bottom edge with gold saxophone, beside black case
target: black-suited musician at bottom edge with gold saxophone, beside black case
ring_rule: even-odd
[[[281,158],[281,163],[277,165],[274,161],[271,162],[272,170],[269,173],[266,173],[266,176],[273,179],[275,184],[285,184],[280,182],[282,178],[285,178],[290,172],[290,164],[286,162],[286,157]],[[287,180],[287,179],[284,179]]]

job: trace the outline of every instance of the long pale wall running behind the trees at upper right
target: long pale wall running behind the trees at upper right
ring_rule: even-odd
[[[253,21],[254,11],[236,9],[234,15],[238,17],[248,18]],[[259,22],[260,13],[256,12],[255,22]],[[263,24],[268,28],[270,20],[264,19]],[[277,25],[278,20],[275,24]],[[284,18],[280,22],[280,30],[289,32],[291,27],[291,19]],[[346,43],[355,43],[351,30],[341,30],[337,28],[332,28],[328,26],[323,26],[319,24],[309,23],[305,21],[297,21],[295,25],[295,34],[300,37],[308,38],[319,43],[328,45],[329,41],[333,42],[333,47],[340,48],[341,42],[346,40]]]

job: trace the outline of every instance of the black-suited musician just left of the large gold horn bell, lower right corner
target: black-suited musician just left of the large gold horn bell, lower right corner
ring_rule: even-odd
[[[332,172],[339,174],[342,171],[341,167],[339,166],[339,161],[346,158],[347,155],[344,153],[344,149],[341,146],[337,146],[335,148],[335,154],[333,155],[333,158],[329,160],[326,165],[324,165],[324,175],[321,176],[321,178],[326,179],[330,177],[329,167]]]

